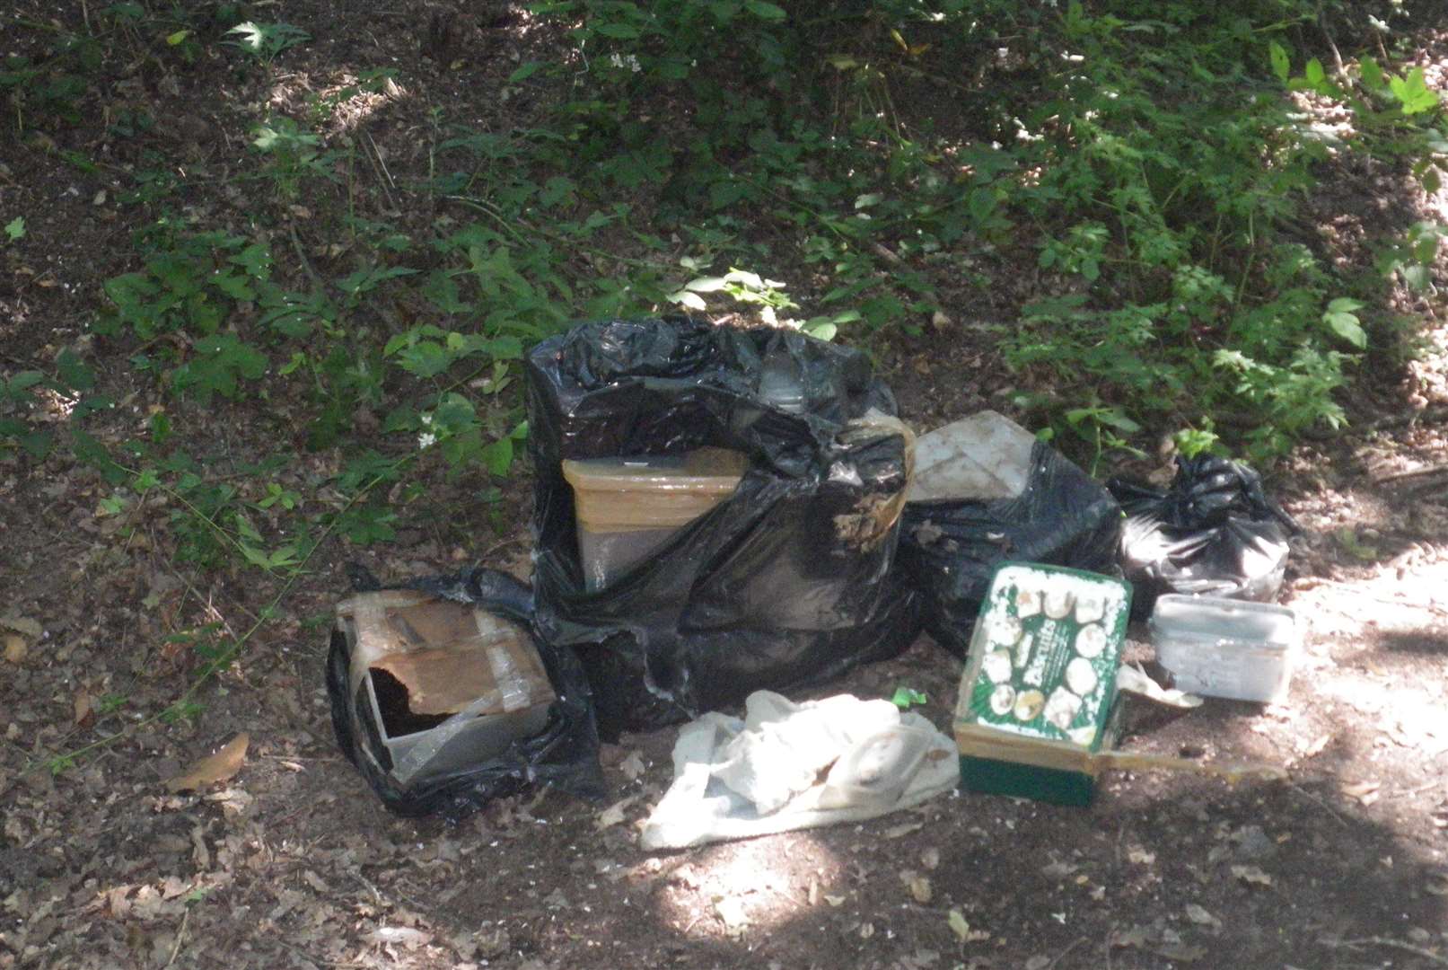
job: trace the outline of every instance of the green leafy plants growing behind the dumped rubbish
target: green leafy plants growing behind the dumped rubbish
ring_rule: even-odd
[[[1315,232],[1306,201],[1334,159],[1434,191],[1448,156],[1444,106],[1358,6],[540,1],[550,56],[498,91],[529,107],[482,126],[398,103],[426,161],[397,175],[342,114],[405,87],[407,67],[350,65],[304,110],[262,97],[319,26],[139,3],[83,30],[22,23],[36,42],[0,65],[0,122],[35,151],[59,151],[46,133],[138,65],[224,58],[253,107],[232,111],[242,171],[193,178],[151,146],[110,166],[138,229],[90,332],[143,379],[143,427],[119,431],[103,375],[67,350],[0,384],[0,449],[68,447],[109,484],[117,536],[164,508],[181,562],[281,595],[324,539],[392,540],[426,475],[497,499],[527,434],[531,343],[686,310],[875,347],[951,340],[931,321],[970,319],[1018,405],[1093,465],[1161,433],[1270,462],[1342,424],[1364,359],[1410,346],[1384,295],[1426,288],[1448,233],[1402,227],[1345,271]],[[106,116],[122,142],[162,122]],[[26,213],[6,217],[0,248],[23,250]],[[246,402],[265,402],[278,447],[219,471],[209,429]],[[187,636],[206,678],[251,633]]]

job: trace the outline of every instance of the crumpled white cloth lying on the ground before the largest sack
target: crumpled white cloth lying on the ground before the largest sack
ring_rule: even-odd
[[[644,848],[686,848],[875,818],[960,780],[956,744],[924,717],[847,693],[795,704],[770,691],[744,720],[705,714],[673,746],[673,785]]]

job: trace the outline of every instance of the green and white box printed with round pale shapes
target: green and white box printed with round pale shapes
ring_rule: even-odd
[[[956,705],[966,790],[1086,805],[1116,740],[1131,612],[1119,579],[1038,563],[990,578]]]

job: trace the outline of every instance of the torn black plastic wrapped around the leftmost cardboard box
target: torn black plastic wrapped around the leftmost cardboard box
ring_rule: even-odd
[[[359,594],[381,591],[365,569],[349,568]],[[533,594],[524,583],[494,569],[413,579],[385,589],[410,589],[440,599],[472,604],[526,628],[533,620]],[[391,756],[382,744],[371,711],[349,691],[348,638],[333,631],[327,656],[327,695],[337,744],[388,809],[404,817],[440,815],[456,822],[494,798],[514,795],[536,785],[552,785],[582,798],[602,798],[598,764],[598,730],[594,721],[588,679],[568,647],[534,641],[556,695],[547,708],[546,725],[534,735],[513,741],[484,763],[468,764],[442,776],[400,785],[391,775]]]

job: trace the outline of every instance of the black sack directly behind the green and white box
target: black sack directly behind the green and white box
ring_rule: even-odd
[[[1037,442],[1030,460],[1018,495],[905,505],[901,572],[919,594],[927,633],[957,657],[970,649],[976,615],[999,563],[1115,572],[1121,536],[1116,499],[1048,444]]]

